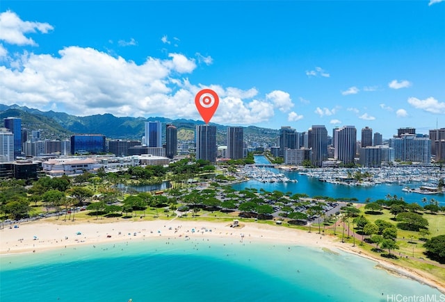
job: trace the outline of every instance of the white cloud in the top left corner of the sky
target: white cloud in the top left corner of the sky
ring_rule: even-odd
[[[48,33],[54,28],[48,23],[22,21],[15,12],[6,10],[0,13],[0,40],[8,44],[38,46],[26,33]]]

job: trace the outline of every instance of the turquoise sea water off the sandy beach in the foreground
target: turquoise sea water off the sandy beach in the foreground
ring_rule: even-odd
[[[338,252],[179,238],[7,255],[0,300],[387,301],[387,294],[440,294]]]

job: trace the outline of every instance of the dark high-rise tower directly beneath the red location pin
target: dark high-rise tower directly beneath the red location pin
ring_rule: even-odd
[[[197,160],[216,162],[216,126],[196,126],[195,143]]]

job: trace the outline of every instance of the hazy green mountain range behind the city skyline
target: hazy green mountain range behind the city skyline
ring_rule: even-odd
[[[145,121],[161,121],[163,124],[172,124],[177,127],[179,141],[191,142],[194,140],[195,126],[204,124],[204,121],[193,119],[115,117],[109,113],[77,117],[65,112],[41,111],[26,106],[0,104],[0,119],[6,117],[20,117],[22,128],[29,131],[40,130],[42,140],[64,140],[74,133],[99,133],[111,139],[141,140],[144,135]],[[217,128],[218,145],[226,144],[227,126],[213,123],[211,125]],[[276,129],[256,126],[243,128],[246,142],[274,144],[277,140],[278,130]],[[165,135],[165,127],[163,127],[163,135]]]

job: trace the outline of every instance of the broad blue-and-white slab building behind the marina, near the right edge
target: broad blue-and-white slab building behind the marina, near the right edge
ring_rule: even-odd
[[[431,140],[428,137],[416,137],[413,134],[401,135],[389,140],[389,146],[394,148],[394,159],[402,162],[431,161]]]

